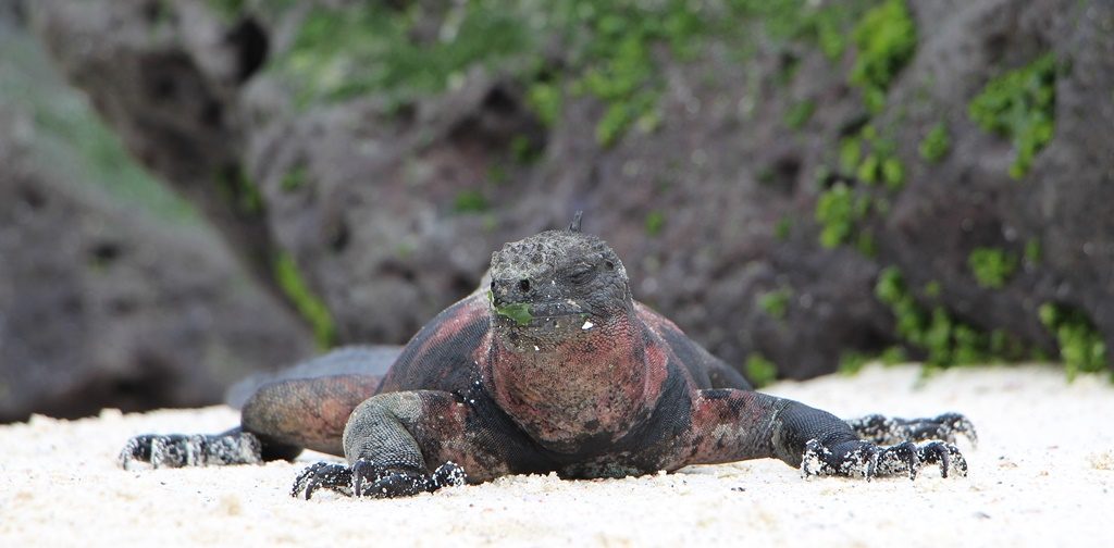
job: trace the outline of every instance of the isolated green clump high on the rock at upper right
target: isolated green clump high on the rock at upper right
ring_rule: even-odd
[[[968,106],[968,115],[986,131],[1009,138],[1015,158],[1009,176],[1028,173],[1033,157],[1055,129],[1056,57],[1046,53],[1028,66],[990,80]]]

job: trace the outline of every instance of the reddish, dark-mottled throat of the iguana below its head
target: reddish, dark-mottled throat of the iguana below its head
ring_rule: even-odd
[[[593,325],[570,340],[514,352],[494,336],[485,382],[508,414],[556,452],[614,441],[656,404],[664,352],[629,316]]]

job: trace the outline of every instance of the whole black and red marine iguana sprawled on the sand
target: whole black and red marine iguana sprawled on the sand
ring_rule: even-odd
[[[515,473],[614,478],[768,457],[804,477],[913,479],[926,464],[966,476],[954,442],[976,434],[961,414],[843,421],[756,392],[635,301],[619,257],[579,224],[578,214],[568,229],[495,252],[480,288],[422,327],[385,374],[372,374],[373,359],[361,372],[360,349],[326,354],[299,368],[304,378],[260,388],[241,427],[138,436],[121,464],[343,454],[346,464],[297,476],[291,495],[306,499],[320,488],[400,497]]]

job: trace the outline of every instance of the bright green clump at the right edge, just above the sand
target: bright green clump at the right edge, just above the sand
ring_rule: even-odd
[[[1056,335],[1068,380],[1079,373],[1097,373],[1107,368],[1106,343],[1083,311],[1045,303],[1038,313],[1040,323]]]

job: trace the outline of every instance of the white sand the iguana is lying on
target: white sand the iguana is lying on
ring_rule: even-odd
[[[971,473],[802,480],[773,461],[598,481],[511,477],[400,500],[290,497],[319,456],[265,467],[117,468],[133,434],[216,432],[227,408],[0,428],[0,546],[673,545],[1114,546],[1114,388],[1052,368],[910,366],[769,392],[843,417],[966,413]]]

